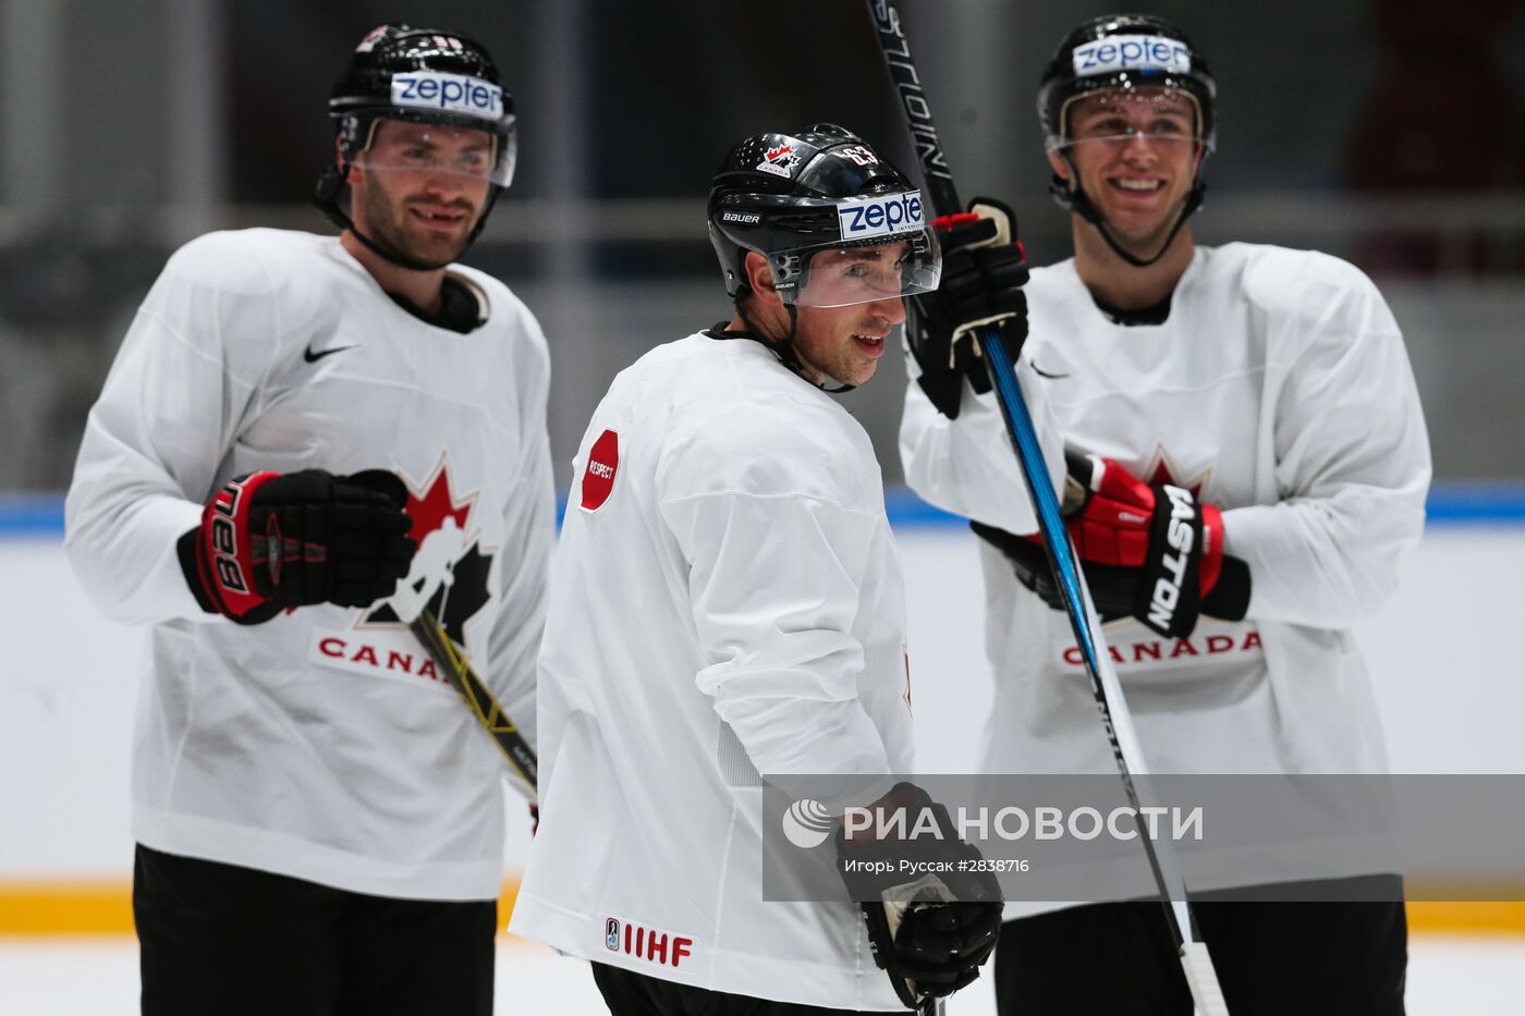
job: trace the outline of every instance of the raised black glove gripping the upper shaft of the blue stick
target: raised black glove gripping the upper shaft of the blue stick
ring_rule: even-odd
[[[918,383],[949,420],[958,418],[962,381],[990,391],[974,330],[1000,328],[1011,362],[1028,337],[1026,255],[1016,240],[1011,209],[994,198],[974,198],[970,211],[932,221],[942,247],[942,284],[910,297],[906,340],[921,368]]]

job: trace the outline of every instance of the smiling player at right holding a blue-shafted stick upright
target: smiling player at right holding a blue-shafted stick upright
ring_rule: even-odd
[[[1061,43],[1039,111],[1075,255],[1032,272],[1026,323],[1011,307],[1003,328],[1055,481],[1069,453],[1069,531],[1150,769],[1382,772],[1351,625],[1388,598],[1423,528],[1414,378],[1353,265],[1194,244],[1214,107],[1202,55],[1157,18],[1095,18]],[[1003,217],[939,221],[944,249]],[[926,301],[907,330],[901,453],[912,487],[987,539],[984,769],[1113,772],[984,365],[947,320],[956,302]],[[1168,539],[1173,516],[1193,528],[1190,554]],[[1235,1016],[1403,1011],[1400,882],[1360,859],[1340,874],[1293,899],[1379,902],[1199,899]],[[1010,921],[996,985],[1010,1014],[1191,1011],[1157,903]]]

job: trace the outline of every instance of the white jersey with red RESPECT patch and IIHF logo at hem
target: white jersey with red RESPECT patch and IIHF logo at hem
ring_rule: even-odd
[[[868,435],[761,345],[695,334],[619,374],[575,477],[509,929],[695,987],[901,1010],[845,895],[762,902],[758,827],[758,773],[910,772]]]

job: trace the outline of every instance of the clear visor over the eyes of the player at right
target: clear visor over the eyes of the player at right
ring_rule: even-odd
[[[1063,110],[1066,137],[1049,137],[1049,151],[1081,145],[1148,145],[1185,153],[1203,145],[1196,98],[1176,88],[1118,88],[1075,96]]]

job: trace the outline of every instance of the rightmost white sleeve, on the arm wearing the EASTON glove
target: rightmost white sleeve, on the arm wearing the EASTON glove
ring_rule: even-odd
[[[1424,528],[1430,456],[1397,322],[1369,279],[1327,261],[1344,294],[1295,314],[1284,342],[1296,352],[1275,395],[1279,500],[1225,511],[1223,534],[1250,569],[1249,616],[1334,629],[1395,589]]]

